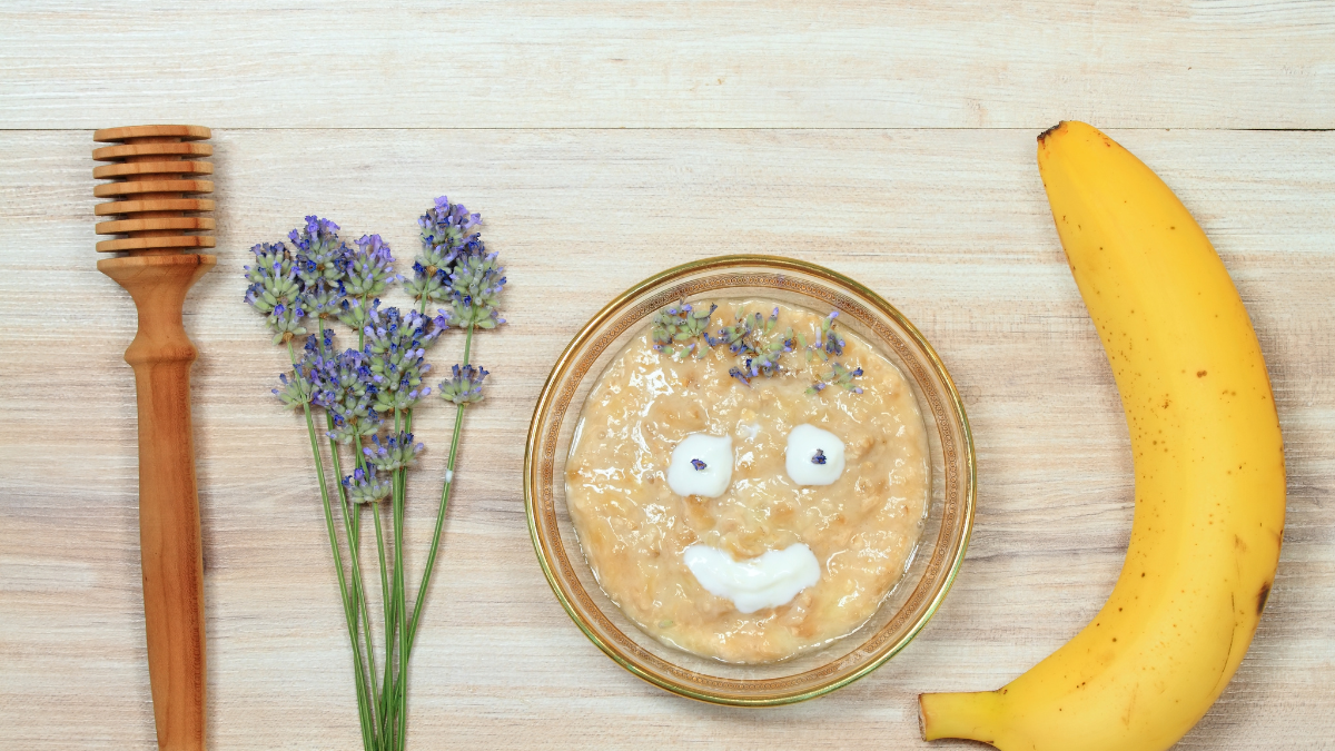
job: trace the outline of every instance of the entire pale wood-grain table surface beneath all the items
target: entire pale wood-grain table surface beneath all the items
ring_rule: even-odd
[[[214,128],[219,261],[186,307],[211,748],[359,743],[306,436],[242,303],[247,249],[318,212],[411,258],[441,194],[482,212],[510,323],[477,342],[493,388],[469,414],[414,659],[414,747],[913,748],[917,692],[995,688],[1059,647],[1129,535],[1127,428],[1035,167],[1059,119],[1105,128],[1200,220],[1284,429],[1270,605],[1179,747],[1335,747],[1335,4],[11,0],[0,748],[154,748],[121,361],[135,311],[93,269],[93,128]],[[680,699],[598,652],[542,577],[521,489],[537,392],[581,323],[724,253],[822,263],[890,299],[953,373],[979,456],[973,541],[921,636],[848,688],[764,711]],[[418,422],[417,551],[449,420]]]

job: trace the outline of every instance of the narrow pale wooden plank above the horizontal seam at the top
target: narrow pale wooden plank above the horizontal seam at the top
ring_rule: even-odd
[[[1335,126],[1323,0],[11,0],[0,127]]]

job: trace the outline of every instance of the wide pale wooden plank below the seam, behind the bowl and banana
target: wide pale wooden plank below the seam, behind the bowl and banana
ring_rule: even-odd
[[[121,120],[124,120],[121,118]],[[219,269],[186,302],[208,613],[210,747],[355,748],[350,657],[284,354],[242,302],[248,247],[318,211],[400,258],[449,194],[510,286],[470,410],[413,665],[419,748],[971,748],[917,740],[920,691],[1001,686],[1103,604],[1131,528],[1117,393],[1057,242],[1032,130],[214,131]],[[1335,736],[1335,132],[1111,131],[1177,191],[1264,350],[1288,461],[1266,617],[1180,748]],[[134,306],[96,273],[85,131],[0,134],[0,748],[154,744],[140,609]],[[898,306],[967,400],[979,510],[963,572],[869,678],[774,710],[692,703],[607,660],[547,588],[525,527],[533,402],[601,305],[724,253],[826,265]],[[433,353],[459,355],[458,337]],[[451,412],[415,425],[421,565]]]

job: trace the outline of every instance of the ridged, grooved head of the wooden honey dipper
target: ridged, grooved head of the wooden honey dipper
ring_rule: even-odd
[[[129,126],[93,132],[97,142],[113,143],[95,148],[92,158],[109,162],[93,168],[92,176],[109,179],[93,188],[99,198],[112,198],[97,204],[99,235],[123,235],[97,243],[97,253],[131,255],[164,255],[214,247],[214,219],[199,216],[212,211],[214,202],[200,195],[214,192],[210,176],[214,166],[203,158],[214,147],[198,143],[212,132],[202,126]]]

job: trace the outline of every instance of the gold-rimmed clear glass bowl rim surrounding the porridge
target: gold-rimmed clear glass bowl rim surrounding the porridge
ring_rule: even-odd
[[[566,506],[565,464],[585,397],[606,365],[661,309],[698,298],[769,298],[822,313],[877,345],[912,384],[926,425],[932,500],[904,579],[872,619],[830,645],[762,665],[698,657],[639,631],[594,580]],[[893,657],[940,607],[973,524],[973,440],[951,376],[922,334],[862,285],[828,269],[765,255],[686,263],[626,290],[575,334],[538,397],[523,458],[529,532],[542,571],[581,631],[621,667],[668,691],[718,704],[772,706],[828,694]]]

